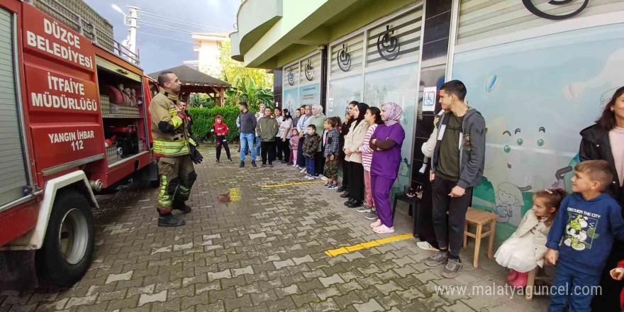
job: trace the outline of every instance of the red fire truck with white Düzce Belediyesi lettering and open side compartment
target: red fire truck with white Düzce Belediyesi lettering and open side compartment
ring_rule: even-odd
[[[94,250],[94,191],[130,177],[156,179],[150,83],[138,55],[101,25],[110,26],[80,0],[0,0],[0,274],[7,279],[32,262],[47,284],[77,282]]]

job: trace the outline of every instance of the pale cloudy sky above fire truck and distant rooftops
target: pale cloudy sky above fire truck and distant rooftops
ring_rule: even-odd
[[[113,4],[128,13],[127,5],[140,7],[137,46],[140,67],[145,74],[182,65],[185,60],[196,60],[195,44],[190,32],[230,33],[234,30],[238,0],[83,0],[113,25],[115,40],[121,43],[128,36],[128,26],[123,15],[112,8]],[[143,11],[143,12],[141,12]],[[153,14],[153,15],[152,15]],[[156,15],[156,16],[154,16]],[[193,26],[165,21],[191,23]],[[174,28],[165,30],[162,28]],[[178,31],[176,31],[178,30]],[[148,35],[149,34],[149,35]],[[167,38],[162,38],[162,37]]]

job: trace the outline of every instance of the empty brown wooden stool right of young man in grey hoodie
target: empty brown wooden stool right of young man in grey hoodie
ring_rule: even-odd
[[[491,223],[489,228],[484,226]],[[468,231],[468,225],[477,225],[476,233],[472,234]],[[485,233],[483,231],[486,230]],[[466,224],[464,225],[464,248],[468,243],[468,237],[474,238],[474,262],[473,267],[479,267],[479,247],[481,247],[481,238],[490,237],[488,244],[488,259],[492,258],[492,245],[494,245],[494,230],[496,230],[496,215],[479,209],[468,207],[466,211]]]

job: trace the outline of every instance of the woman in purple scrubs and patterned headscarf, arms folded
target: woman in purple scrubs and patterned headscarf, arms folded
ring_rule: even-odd
[[[381,106],[381,120],[370,140],[373,152],[371,163],[371,189],[379,219],[371,223],[375,233],[394,233],[390,190],[401,165],[401,146],[405,131],[401,127],[403,109],[396,103]]]

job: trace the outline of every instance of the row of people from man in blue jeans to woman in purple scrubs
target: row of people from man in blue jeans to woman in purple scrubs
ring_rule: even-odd
[[[271,108],[261,106],[260,112],[254,116],[247,104],[241,102],[240,167],[245,166],[248,149],[251,149],[252,166],[257,167],[255,159],[258,153],[252,148],[254,135],[257,135],[256,142],[261,143],[262,167],[267,165],[267,160],[268,167],[272,167],[275,155],[277,160],[281,156],[283,163],[296,162],[292,164],[293,167],[301,167],[301,173],[308,174],[306,179],[329,180],[325,184],[327,189],[338,186],[335,185],[335,165],[334,169],[328,169],[325,161],[331,165],[336,158],[341,159],[343,179],[338,191],[342,192],[341,197],[348,198],[345,206],[357,208],[359,212],[368,212],[369,220],[377,219],[371,223],[375,232],[392,233],[394,228],[390,191],[398,176],[401,146],[405,138],[405,132],[399,123],[401,116],[403,111],[398,104],[386,103],[379,109],[357,101],[348,105],[345,123],[338,117],[325,118],[321,105],[303,105],[295,110],[294,118],[287,109],[280,111],[275,108],[272,111]],[[340,130],[339,143],[328,138],[328,133],[334,130]],[[316,152],[309,152],[309,147],[306,147],[304,157],[303,147],[307,144],[306,138],[311,135],[318,135],[320,140],[312,149]],[[336,136],[338,137],[338,133]],[[292,153],[289,146],[293,146]],[[325,147],[331,147],[331,155],[328,155]],[[313,169],[310,161],[314,163]],[[325,177],[326,170],[331,177]],[[379,207],[377,212],[373,210],[373,203],[377,203]]]

